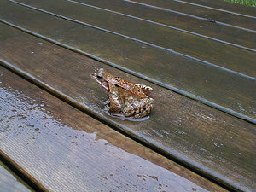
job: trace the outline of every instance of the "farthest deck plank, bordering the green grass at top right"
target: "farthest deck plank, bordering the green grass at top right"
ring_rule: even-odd
[[[255,8],[243,6],[240,4],[230,3],[223,0],[183,0],[184,3],[195,3],[201,6],[207,6],[213,9],[223,9],[225,11],[250,15],[256,17]]]

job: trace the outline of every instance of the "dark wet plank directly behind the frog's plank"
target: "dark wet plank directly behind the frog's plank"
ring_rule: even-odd
[[[30,30],[38,37],[81,51],[99,61],[107,62],[109,65],[207,103],[226,113],[256,122],[254,78],[238,75],[108,32],[81,26],[15,3],[3,0],[1,2],[4,2],[4,6],[0,8],[0,16],[4,22],[23,27],[25,31]],[[242,51],[247,52],[247,50],[241,50],[241,57],[247,55]],[[233,53],[226,52],[226,54],[230,55],[226,57],[227,61],[233,61]],[[244,68],[248,72],[255,71],[254,55],[247,55],[241,61],[244,65],[245,61],[250,61],[247,62],[249,66]]]

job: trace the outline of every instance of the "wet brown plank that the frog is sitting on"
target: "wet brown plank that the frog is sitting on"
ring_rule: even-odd
[[[2,65],[196,172],[232,189],[249,191],[255,187],[254,125],[84,55],[1,26]],[[90,78],[90,73],[100,67],[153,87],[156,104],[148,120],[124,121],[102,111],[107,96]]]

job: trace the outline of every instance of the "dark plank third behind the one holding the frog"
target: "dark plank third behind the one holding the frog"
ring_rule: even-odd
[[[203,35],[204,37],[215,38],[217,40],[251,49],[255,49],[256,46],[256,40],[253,40],[255,39],[254,32],[247,32],[241,29],[234,32],[234,27],[217,25],[216,23],[208,22],[206,20],[198,20],[194,17],[179,15],[174,12],[163,11],[119,0],[77,0],[76,2],[84,3],[84,6],[87,4],[96,6],[100,9],[108,9],[109,11],[114,11],[116,13],[138,17],[139,19],[154,21],[159,23],[159,25],[163,24],[177,27],[177,30],[181,29],[188,32],[194,32],[198,35]],[[34,6],[35,3],[33,2],[32,5]],[[75,15],[78,18],[78,13]]]

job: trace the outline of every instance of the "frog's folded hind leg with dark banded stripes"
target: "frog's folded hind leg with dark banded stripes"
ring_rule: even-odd
[[[134,119],[147,116],[154,106],[154,99],[144,98],[136,102],[128,103],[123,111],[125,117],[133,117]]]

